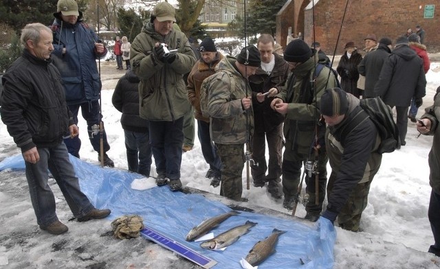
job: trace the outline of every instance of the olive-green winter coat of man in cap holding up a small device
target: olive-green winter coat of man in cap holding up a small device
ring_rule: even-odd
[[[155,43],[165,43],[168,49],[177,49],[173,62],[157,60]],[[155,32],[147,22],[131,43],[131,68],[140,78],[140,117],[150,121],[175,121],[190,109],[183,75],[195,64],[188,38],[171,29],[166,36]]]

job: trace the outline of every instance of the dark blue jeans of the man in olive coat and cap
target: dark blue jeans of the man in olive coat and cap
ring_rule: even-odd
[[[156,172],[170,180],[180,179],[184,117],[175,121],[150,121],[150,143]]]

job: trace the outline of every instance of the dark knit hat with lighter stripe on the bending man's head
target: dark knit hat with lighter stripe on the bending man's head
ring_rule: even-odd
[[[344,115],[349,109],[347,93],[342,89],[327,89],[321,96],[321,115],[334,117]]]

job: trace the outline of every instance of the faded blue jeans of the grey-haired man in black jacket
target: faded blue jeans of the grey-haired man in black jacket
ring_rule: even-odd
[[[26,178],[36,222],[41,226],[47,226],[58,220],[54,193],[47,184],[49,178],[47,169],[54,176],[75,218],[86,215],[94,209],[89,198],[80,190],[74,166],[69,161],[66,145],[60,143],[52,148],[37,148],[37,150],[40,161],[36,164],[25,162]]]

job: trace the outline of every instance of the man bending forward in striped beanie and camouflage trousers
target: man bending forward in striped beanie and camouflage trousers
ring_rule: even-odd
[[[325,90],[320,111],[327,124],[325,147],[331,166],[329,203],[322,217],[332,223],[338,217],[342,229],[356,232],[382,162],[382,154],[377,153],[380,136],[360,100],[342,89]]]

